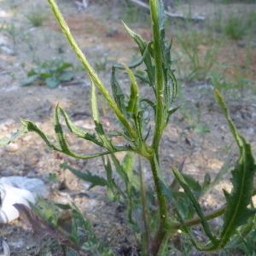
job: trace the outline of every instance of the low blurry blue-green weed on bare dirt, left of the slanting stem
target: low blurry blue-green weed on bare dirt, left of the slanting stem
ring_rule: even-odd
[[[38,82],[46,84],[49,88],[56,88],[61,82],[68,82],[74,77],[73,64],[63,61],[38,62],[37,67],[27,73],[27,78],[21,82],[27,86]]]

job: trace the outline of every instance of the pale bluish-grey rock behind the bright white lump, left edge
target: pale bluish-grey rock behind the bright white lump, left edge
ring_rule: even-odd
[[[38,178],[22,176],[1,177],[1,183],[9,184],[19,189],[26,189],[35,196],[47,197],[49,193],[47,186]]]

